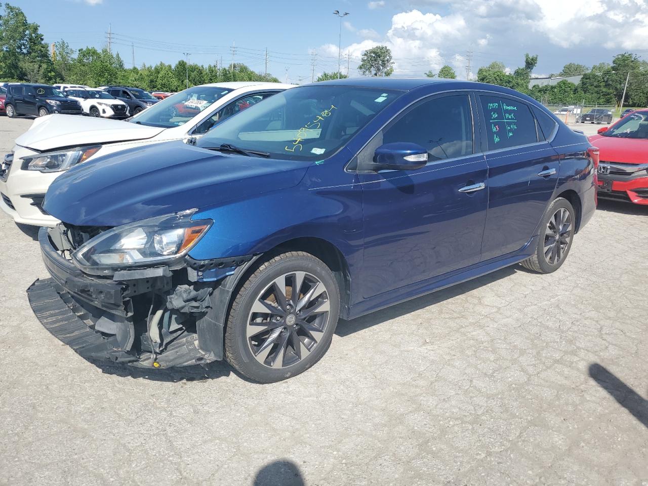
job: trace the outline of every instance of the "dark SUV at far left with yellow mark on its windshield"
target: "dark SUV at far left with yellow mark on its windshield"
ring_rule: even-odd
[[[10,84],[6,90],[5,111],[9,118],[18,115],[44,117],[52,113],[81,115],[83,109],[78,101],[65,97],[63,93],[47,84]]]

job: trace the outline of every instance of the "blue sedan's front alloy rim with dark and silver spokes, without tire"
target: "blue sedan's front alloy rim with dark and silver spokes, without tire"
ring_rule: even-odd
[[[307,272],[284,273],[257,295],[246,341],[255,360],[280,369],[316,348],[329,325],[329,291]]]

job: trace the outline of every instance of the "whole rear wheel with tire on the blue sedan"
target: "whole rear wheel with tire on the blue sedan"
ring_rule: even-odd
[[[542,216],[536,251],[522,262],[522,266],[538,273],[552,273],[561,268],[572,248],[575,221],[568,200],[553,200]]]

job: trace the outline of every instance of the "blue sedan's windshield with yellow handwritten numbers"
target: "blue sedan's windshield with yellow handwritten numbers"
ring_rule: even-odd
[[[197,145],[230,144],[277,159],[324,159],[401,94],[356,86],[295,87],[216,125]]]

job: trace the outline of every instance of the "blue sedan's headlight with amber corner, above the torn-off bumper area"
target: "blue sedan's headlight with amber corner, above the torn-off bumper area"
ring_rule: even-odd
[[[89,268],[89,273],[179,259],[213,223],[192,221],[195,212],[191,209],[111,228],[88,240],[72,257],[78,266]]]

